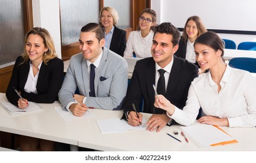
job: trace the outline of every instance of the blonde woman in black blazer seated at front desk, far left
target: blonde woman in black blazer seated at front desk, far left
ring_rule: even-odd
[[[35,27],[24,40],[24,52],[16,59],[6,91],[8,100],[20,109],[26,108],[28,101],[52,103],[58,100],[64,75],[64,63],[55,54],[54,42],[47,30]],[[20,148],[22,151],[52,151],[54,141],[20,136]]]

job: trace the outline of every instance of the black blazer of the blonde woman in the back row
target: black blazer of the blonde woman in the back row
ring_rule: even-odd
[[[110,42],[110,50],[118,55],[124,56],[126,48],[126,31],[114,28],[113,36]]]

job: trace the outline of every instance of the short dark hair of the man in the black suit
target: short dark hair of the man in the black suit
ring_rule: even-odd
[[[171,40],[171,43],[173,43],[173,46],[178,45],[178,42],[180,42],[180,31],[171,23],[165,22],[156,26],[154,37],[156,33],[171,34],[173,36],[173,39]]]

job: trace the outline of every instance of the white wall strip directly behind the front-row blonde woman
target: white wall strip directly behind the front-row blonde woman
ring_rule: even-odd
[[[61,58],[59,0],[32,0],[32,5],[34,27],[43,27],[50,32],[58,58]]]

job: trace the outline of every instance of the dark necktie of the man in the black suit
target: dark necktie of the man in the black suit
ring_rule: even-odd
[[[162,94],[164,97],[166,95],[166,80],[164,79],[164,73],[166,72],[164,69],[159,69],[160,77],[157,82],[157,94]],[[156,108],[156,114],[163,114],[164,110],[160,108]]]

